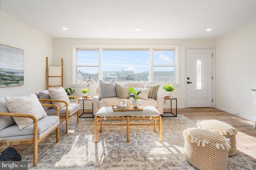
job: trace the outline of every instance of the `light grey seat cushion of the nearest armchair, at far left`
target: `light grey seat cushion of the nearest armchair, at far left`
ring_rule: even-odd
[[[54,123],[58,122],[59,119],[60,118],[58,116],[46,116],[38,120],[38,134],[42,133],[43,131],[51,127]],[[15,124],[3,129],[0,133],[0,138],[22,136],[22,135],[33,135],[33,133],[34,133],[33,123],[31,125],[28,125],[27,127],[24,127],[22,130],[20,130],[18,128],[18,125]]]

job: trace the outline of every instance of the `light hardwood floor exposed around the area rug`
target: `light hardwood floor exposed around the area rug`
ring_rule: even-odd
[[[170,109],[169,109],[170,110]],[[175,109],[172,110],[174,112]],[[86,112],[90,112],[88,109]],[[168,111],[168,109],[164,109],[164,111]],[[238,134],[236,135],[236,147],[237,150],[242,152],[246,157],[250,160],[256,162],[256,129],[253,128],[254,121],[250,121],[239,117],[237,115],[233,115],[231,113],[227,113],[225,111],[209,108],[209,107],[192,107],[192,108],[184,108],[178,109],[178,115],[185,115],[190,120],[195,123],[198,120],[210,120],[216,119],[225,123],[228,123],[238,130]],[[80,119],[92,119],[92,118],[80,118]],[[164,119],[173,119],[173,117],[164,117]],[[61,123],[64,119],[61,120]],[[18,152],[22,152],[27,149],[30,145],[19,145],[12,146],[18,150]]]

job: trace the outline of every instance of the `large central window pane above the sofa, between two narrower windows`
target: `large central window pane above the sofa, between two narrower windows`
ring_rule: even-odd
[[[149,61],[149,49],[103,49],[102,80],[148,82]]]

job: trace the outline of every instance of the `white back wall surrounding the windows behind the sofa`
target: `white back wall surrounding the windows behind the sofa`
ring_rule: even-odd
[[[179,82],[180,86],[175,87],[175,91],[172,93],[173,97],[178,98],[178,107],[186,107],[185,98],[185,70],[184,65],[185,46],[214,46],[214,40],[193,40],[193,39],[68,39],[68,38],[54,38],[53,39],[53,63],[55,66],[60,66],[60,61],[63,58],[64,63],[64,88],[72,87],[72,45],[178,45],[179,46]],[[74,95],[81,97],[81,88],[75,88]],[[95,89],[90,86],[90,95]],[[164,90],[160,88],[159,94],[165,94]],[[169,101],[168,101],[169,102]],[[175,102],[173,102],[173,105]],[[81,105],[82,106],[82,105]],[[170,104],[166,104],[166,107],[170,107]]]

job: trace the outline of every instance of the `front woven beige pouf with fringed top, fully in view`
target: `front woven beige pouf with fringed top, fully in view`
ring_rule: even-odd
[[[201,128],[183,131],[185,157],[199,170],[226,170],[230,139]]]

